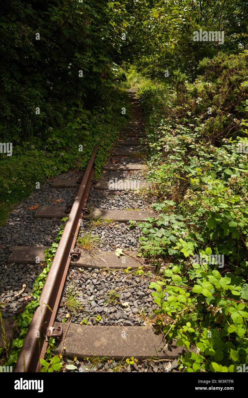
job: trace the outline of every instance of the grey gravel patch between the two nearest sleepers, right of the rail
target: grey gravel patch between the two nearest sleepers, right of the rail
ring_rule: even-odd
[[[83,274],[83,276],[82,276]],[[96,276],[97,275],[97,276]],[[87,277],[87,283],[85,283]],[[126,274],[124,271],[71,269],[68,277],[57,321],[61,322],[67,312],[72,316],[72,323],[90,325],[143,325],[146,319],[154,317],[156,304],[153,302],[150,282],[142,276]],[[74,295],[80,307],[74,313],[73,306],[66,306],[67,297]],[[168,296],[168,294],[166,293]],[[128,302],[126,308],[123,303]],[[98,319],[97,319],[98,318]],[[67,318],[67,321],[69,318]]]

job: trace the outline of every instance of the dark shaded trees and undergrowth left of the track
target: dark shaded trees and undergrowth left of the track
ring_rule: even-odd
[[[0,222],[37,182],[83,170],[97,144],[99,176],[129,108],[113,18],[111,6],[94,0],[2,5],[0,142],[12,152],[1,147]]]

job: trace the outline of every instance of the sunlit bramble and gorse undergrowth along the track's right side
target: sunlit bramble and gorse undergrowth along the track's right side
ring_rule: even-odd
[[[204,59],[193,83],[176,71],[174,87],[134,74],[158,199],[158,217],[139,223],[141,251],[164,275],[150,284],[158,328],[197,349],[180,359],[186,372],[237,372],[247,362],[247,60]]]

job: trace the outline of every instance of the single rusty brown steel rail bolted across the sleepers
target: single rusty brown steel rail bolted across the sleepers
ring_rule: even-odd
[[[78,189],[76,199],[74,200],[39,298],[40,305],[33,314],[14,372],[39,372],[41,369],[39,359],[44,358],[47,348],[45,336],[50,326],[53,326],[61,300],[61,294],[71,260],[69,253],[70,250],[74,248],[76,242],[83,215],[82,208],[86,206],[91,188],[90,181],[94,177],[94,160],[97,150],[98,145],[95,146],[92,152],[84,177]]]

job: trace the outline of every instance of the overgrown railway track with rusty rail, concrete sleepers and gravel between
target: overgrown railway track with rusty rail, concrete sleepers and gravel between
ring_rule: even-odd
[[[53,181],[53,189],[61,192],[78,189],[73,205],[39,204],[34,210],[34,220],[68,220],[15,372],[40,371],[39,359],[45,355],[49,336],[58,339],[55,353],[62,353],[64,365],[77,357],[78,371],[89,368],[84,366],[86,357],[108,357],[118,364],[133,356],[138,364],[129,365],[128,371],[168,372],[184,352],[176,344],[168,346],[151,327],[155,307],[149,278],[124,271],[128,267],[139,271],[143,266],[152,275],[152,267],[136,256],[141,231],[128,226],[129,220],[139,222],[153,214],[143,191],[150,187],[143,174],[145,148],[140,141],[144,115],[136,90],[128,91],[133,118],[103,168],[104,180],[94,180],[96,146],[83,177]],[[94,243],[97,249],[92,247]],[[42,263],[45,248],[38,244],[15,246],[8,263],[31,265],[37,258]],[[123,250],[121,256],[116,255],[118,248]],[[158,366],[150,367],[152,357]],[[94,368],[108,369],[101,361]]]

